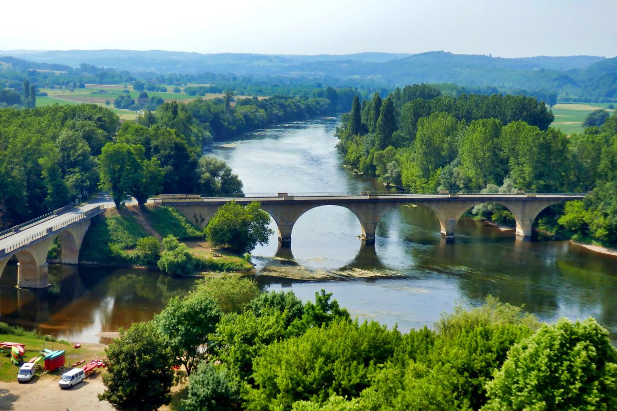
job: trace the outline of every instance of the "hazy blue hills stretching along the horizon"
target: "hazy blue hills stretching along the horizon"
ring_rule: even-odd
[[[200,54],[175,51],[68,50],[14,51],[1,55],[29,60],[33,67],[66,70],[82,63],[126,70],[138,77],[154,73],[197,75],[234,73],[238,76],[289,76],[339,79],[334,86],[357,87],[370,82],[375,87],[402,87],[414,83],[454,83],[458,86],[492,86],[499,90],[552,92],[560,98],[617,98],[617,57],[574,55],[505,59],[492,55],[452,54],[444,51],[421,54],[365,52],[347,55]],[[0,61],[10,63],[8,57]],[[54,67],[54,68],[51,68]],[[81,70],[83,71],[83,70]],[[336,83],[336,84],[335,84]],[[372,87],[372,86],[371,86]]]

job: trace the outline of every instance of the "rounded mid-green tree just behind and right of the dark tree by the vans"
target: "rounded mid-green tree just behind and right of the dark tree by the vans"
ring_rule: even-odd
[[[172,298],[154,317],[159,334],[165,339],[176,364],[183,364],[187,375],[207,358],[203,349],[215,332],[222,312],[206,293],[194,291],[184,298]]]

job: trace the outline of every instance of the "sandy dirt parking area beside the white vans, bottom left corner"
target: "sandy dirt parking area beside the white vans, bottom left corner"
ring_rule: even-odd
[[[60,389],[58,378],[44,376],[27,384],[0,382],[0,411],[112,411],[107,401],[97,394],[105,389],[101,373],[70,389]]]

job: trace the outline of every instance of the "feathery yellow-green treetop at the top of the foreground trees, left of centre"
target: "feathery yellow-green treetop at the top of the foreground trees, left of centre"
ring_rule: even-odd
[[[244,312],[246,305],[259,295],[254,280],[242,279],[236,275],[212,277],[197,283],[197,291],[212,296],[223,312]]]

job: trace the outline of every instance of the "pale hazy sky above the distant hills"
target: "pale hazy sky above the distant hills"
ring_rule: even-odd
[[[617,55],[616,0],[6,1],[0,50]]]

